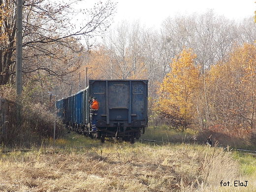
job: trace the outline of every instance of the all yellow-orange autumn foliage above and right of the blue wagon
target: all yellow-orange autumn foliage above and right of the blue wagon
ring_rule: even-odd
[[[128,56],[127,56],[128,57]],[[120,60],[105,49],[91,52],[90,75],[98,79],[122,78]],[[147,78],[145,64],[126,59],[126,78]],[[172,59],[161,83],[150,82],[149,121],[170,128],[223,132],[249,138],[256,126],[256,46],[236,46],[227,57],[204,68],[192,49],[184,47]],[[91,65],[90,65],[91,64]],[[112,66],[113,65],[113,66]],[[111,66],[113,68],[111,68]],[[156,88],[157,87],[157,88]],[[155,93],[155,94],[154,94]]]

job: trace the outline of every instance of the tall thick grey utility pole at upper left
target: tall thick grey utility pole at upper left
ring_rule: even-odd
[[[23,0],[17,0],[16,8],[16,93],[17,96],[22,92],[22,5]]]

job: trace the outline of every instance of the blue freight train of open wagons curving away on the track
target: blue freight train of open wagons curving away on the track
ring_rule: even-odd
[[[90,103],[99,105],[96,132],[92,132]],[[85,136],[134,143],[148,125],[148,80],[89,80],[89,86],[56,102],[64,124]]]

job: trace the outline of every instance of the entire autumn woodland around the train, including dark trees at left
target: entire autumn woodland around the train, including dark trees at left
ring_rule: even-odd
[[[55,98],[48,92],[55,86],[60,98],[84,89],[86,79],[148,79],[150,125],[194,129],[204,139],[213,135],[218,141],[255,143],[253,17],[235,21],[208,10],[166,18],[160,29],[148,29],[139,21],[123,21],[110,28],[116,7],[107,1],[86,10],[91,17],[75,26],[67,16],[76,13],[70,11],[71,4],[55,8],[56,4],[45,1],[38,1],[43,6],[26,3],[23,114],[33,121],[24,120],[20,135],[10,119],[2,118],[2,142],[32,142],[32,137],[27,141],[32,133],[39,140],[52,136],[44,119],[53,122],[53,117],[42,114],[53,110]],[[2,4],[1,95],[15,101],[14,5]],[[11,102],[5,107],[12,108]],[[62,134],[61,125],[57,133]]]

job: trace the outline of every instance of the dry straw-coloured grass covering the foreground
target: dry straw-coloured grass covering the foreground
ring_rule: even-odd
[[[197,145],[103,144],[0,154],[2,192],[204,192],[256,188],[220,187],[242,180],[231,152]]]

